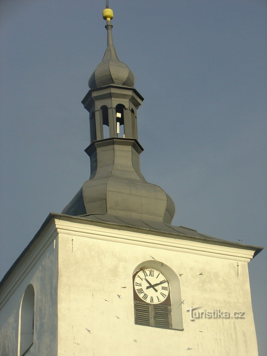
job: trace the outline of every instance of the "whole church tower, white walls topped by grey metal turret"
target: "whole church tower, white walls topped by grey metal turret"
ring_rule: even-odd
[[[112,39],[82,100],[91,174],[0,282],[1,356],[256,356],[248,262],[262,248],[171,225],[140,170],[143,98]]]

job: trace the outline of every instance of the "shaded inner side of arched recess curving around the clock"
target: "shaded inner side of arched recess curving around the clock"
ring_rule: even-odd
[[[161,272],[169,283],[169,293],[171,298],[171,320],[172,329],[183,330],[182,298],[180,289],[180,280],[173,269],[163,262],[148,260],[139,263],[133,270],[133,276],[142,268],[154,268]]]

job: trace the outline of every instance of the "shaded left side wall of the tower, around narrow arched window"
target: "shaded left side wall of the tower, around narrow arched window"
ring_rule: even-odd
[[[1,356],[18,355],[20,304],[28,284],[35,290],[35,318],[33,344],[26,355],[57,354],[58,244],[52,235],[51,229],[43,232],[1,289],[0,297],[9,291],[0,303]]]

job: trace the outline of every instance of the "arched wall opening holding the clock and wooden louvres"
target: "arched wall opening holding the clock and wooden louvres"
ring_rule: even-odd
[[[145,261],[133,273],[135,324],[183,330],[177,274],[159,261]]]

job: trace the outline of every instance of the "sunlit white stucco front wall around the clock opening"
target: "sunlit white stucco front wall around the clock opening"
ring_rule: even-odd
[[[253,251],[56,223],[58,356],[257,355],[247,269]],[[182,274],[184,331],[134,324],[132,274],[151,256]],[[191,321],[189,307],[244,312],[244,318]]]

